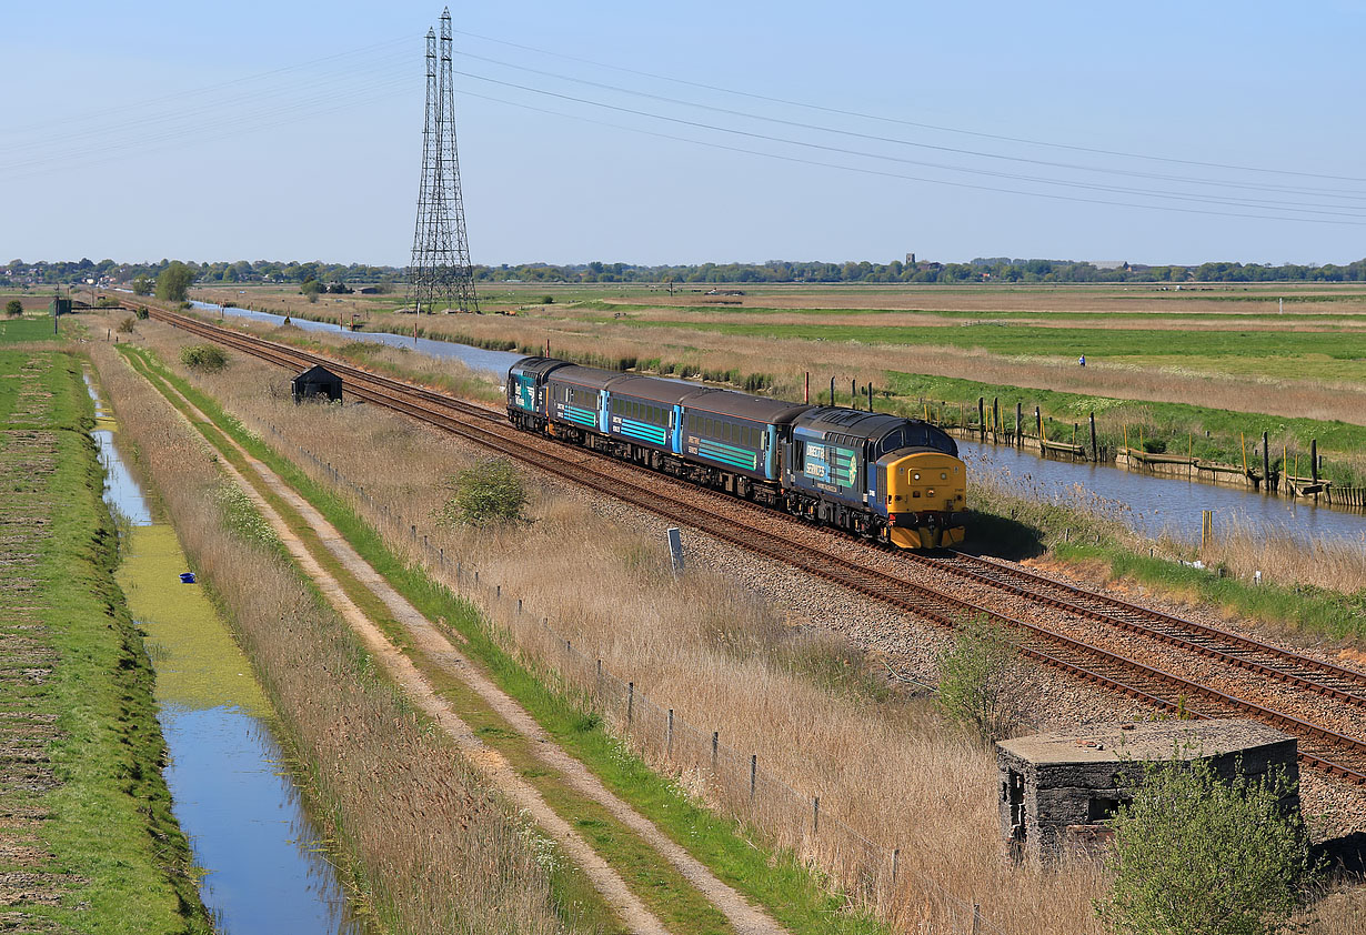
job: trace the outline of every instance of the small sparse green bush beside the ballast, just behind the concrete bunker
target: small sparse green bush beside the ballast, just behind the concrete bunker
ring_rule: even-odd
[[[953,644],[938,658],[938,703],[982,743],[1009,737],[1034,707],[1037,677],[999,624],[973,617],[959,624]]]

